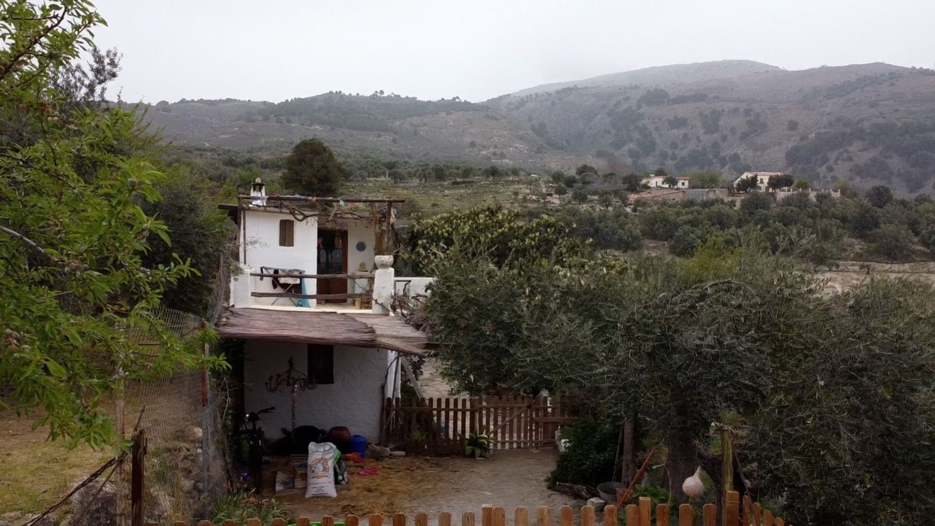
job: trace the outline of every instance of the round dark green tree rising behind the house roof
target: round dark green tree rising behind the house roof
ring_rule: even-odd
[[[344,183],[344,167],[319,139],[305,139],[286,157],[281,183],[298,194],[317,197],[338,195]]]

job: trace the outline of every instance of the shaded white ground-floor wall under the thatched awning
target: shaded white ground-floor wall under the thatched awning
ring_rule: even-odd
[[[278,239],[278,238],[277,238]],[[295,369],[308,368],[305,343],[248,341],[244,348],[244,406],[247,411],[270,405],[276,411],[263,416],[267,438],[281,436],[280,428],[291,426],[291,395],[270,393],[265,382],[270,375],[282,373],[289,357]],[[335,383],[310,391],[299,391],[295,403],[295,425],[310,425],[324,430],[345,426],[352,433],[363,434],[374,442],[380,438],[381,402],[391,396],[396,378],[396,352],[362,347],[335,347]],[[391,366],[392,365],[392,366]],[[383,382],[389,379],[386,386]]]

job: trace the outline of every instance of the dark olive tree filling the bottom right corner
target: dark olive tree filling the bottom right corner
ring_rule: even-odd
[[[801,352],[741,445],[767,496],[784,496],[787,519],[922,524],[935,511],[933,294],[873,280],[787,330]]]

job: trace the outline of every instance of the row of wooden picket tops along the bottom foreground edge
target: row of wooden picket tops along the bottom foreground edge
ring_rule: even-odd
[[[736,491],[728,491],[726,496],[726,508],[723,517],[723,526],[785,526],[785,521],[774,517],[772,512],[764,509],[760,504],[753,504],[750,497],[744,497],[742,506],[739,502],[739,496]],[[624,509],[626,526],[671,526],[670,509],[668,504],[657,504],[653,509],[652,501],[648,497],[640,497],[640,504],[630,504]],[[556,526],[618,526],[619,515],[616,505],[608,504],[602,513],[603,519],[597,520],[597,512],[594,506],[582,506],[576,519],[574,510],[569,505],[564,505],[558,510],[558,524]],[[548,506],[540,506],[536,509],[536,526],[552,526],[552,510]],[[335,526],[336,522],[342,518],[334,516],[325,516],[322,526]],[[343,518],[345,526],[361,526],[363,518],[356,515],[348,515]],[[414,526],[428,526],[429,516],[427,513],[416,513],[413,516],[411,524]],[[209,520],[202,520],[196,523],[197,526],[212,526]],[[309,526],[311,520],[308,517],[296,519],[296,526]],[[384,518],[381,515],[371,515],[367,517],[367,526],[408,526],[409,517],[404,513],[396,513],[392,517]],[[474,512],[467,512],[461,515],[460,526],[475,526],[476,518]],[[513,509],[512,526],[531,526],[529,509],[517,507]],[[704,504],[700,510],[697,510],[691,504],[682,504],[678,508],[679,526],[718,526],[717,507],[714,504]],[[453,526],[453,517],[451,513],[439,513],[439,526]],[[481,511],[482,526],[509,526],[507,521],[506,508],[495,507],[490,504],[484,504]],[[160,526],[158,523],[150,523],[149,526]],[[178,521],[174,526],[189,526],[188,522]],[[241,526],[236,520],[225,520],[221,526]],[[260,519],[249,519],[245,526],[263,526]],[[286,526],[284,519],[274,519],[271,526]]]

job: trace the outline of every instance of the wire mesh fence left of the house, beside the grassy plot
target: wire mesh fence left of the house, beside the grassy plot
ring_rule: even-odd
[[[227,305],[228,262],[222,259],[209,302],[213,323]],[[165,329],[192,338],[204,327],[201,316],[161,308],[157,313]],[[138,343],[150,344],[140,336]],[[206,352],[209,350],[206,349]],[[146,382],[128,382],[116,420],[125,436],[144,430],[143,510],[147,522],[170,524],[201,515],[231,487],[233,470],[227,448],[226,425],[230,404],[226,377],[205,371],[181,370]],[[124,462],[118,492],[117,526],[129,524],[129,464]]]

